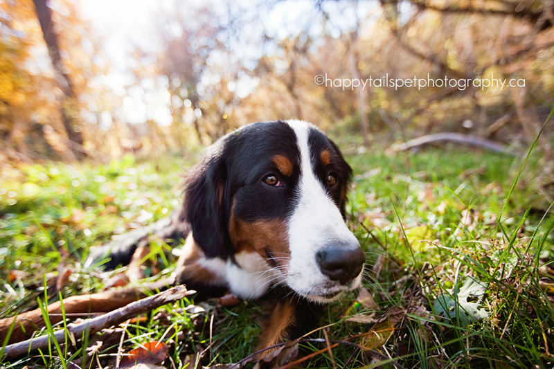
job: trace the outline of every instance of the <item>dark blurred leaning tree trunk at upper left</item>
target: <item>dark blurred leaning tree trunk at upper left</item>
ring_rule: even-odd
[[[73,90],[71,78],[69,78],[69,75],[64,69],[64,64],[62,63],[57,33],[53,29],[52,10],[48,7],[48,0],[33,0],[33,3],[35,3],[35,10],[37,12],[37,18],[39,19],[40,28],[42,29],[42,35],[44,36],[44,42],[46,42],[46,46],[48,47],[48,55],[50,55],[50,59],[52,60],[57,84],[64,94],[61,101],[61,113],[62,123],[64,124],[67,138],[69,139],[66,146],[69,147],[75,157],[83,158],[86,154],[83,150],[81,128],[77,119],[77,98]]]

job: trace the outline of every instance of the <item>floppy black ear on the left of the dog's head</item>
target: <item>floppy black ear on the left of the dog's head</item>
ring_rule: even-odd
[[[226,179],[226,165],[215,156],[197,165],[185,189],[185,217],[195,242],[208,258],[226,257],[232,249]]]

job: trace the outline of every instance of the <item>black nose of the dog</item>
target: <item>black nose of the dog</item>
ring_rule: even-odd
[[[330,280],[338,280],[341,285],[346,285],[356,278],[366,262],[366,254],[358,245],[356,246],[353,248],[345,244],[318,251],[316,261],[321,273]]]

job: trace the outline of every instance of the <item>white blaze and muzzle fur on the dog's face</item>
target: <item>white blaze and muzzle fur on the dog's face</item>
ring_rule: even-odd
[[[301,176],[296,188],[296,206],[289,222],[291,260],[287,285],[304,295],[323,295],[347,289],[331,282],[321,273],[316,253],[330,244],[357,244],[337,204],[332,201],[316,178],[308,139],[314,125],[289,120],[294,129],[301,156]]]

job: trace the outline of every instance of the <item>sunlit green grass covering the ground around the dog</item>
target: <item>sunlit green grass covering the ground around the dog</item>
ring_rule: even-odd
[[[37,307],[45,294],[52,303],[101,289],[106,276],[81,267],[89,247],[166,216],[179,202],[181,174],[196,158],[168,154],[135,161],[126,156],[109,165],[55,163],[4,175],[0,318]],[[409,158],[377,150],[349,156],[355,181],[348,223],[368,255],[364,286],[375,304],[357,302],[352,293],[330,305],[321,325],[332,324],[328,338],[339,345],[332,359],[322,352],[303,365],[553,366],[554,217],[544,215],[551,204],[536,181],[537,158],[537,153],[529,156],[516,181],[524,159],[463,148],[423,150]],[[151,258],[163,249],[166,245],[158,245]],[[163,273],[175,262],[166,255],[167,266],[159,261]],[[70,274],[57,291],[60,263]],[[263,302],[222,307],[208,301],[196,314],[186,312],[190,303],[161,307],[129,323],[123,352],[165,341],[177,368],[194,368],[199,352],[206,366],[240,361],[256,348],[257,322],[267,311]],[[63,327],[49,326],[42,334]],[[107,332],[106,342],[110,334],[115,333]],[[361,336],[345,340],[354,335]],[[324,338],[322,330],[307,338],[301,357],[325,348],[317,340]],[[86,367],[96,367],[119,345],[118,339],[102,345]],[[52,345],[40,359],[3,359],[0,365],[62,368],[84,354]],[[164,365],[172,367],[170,361]]]

